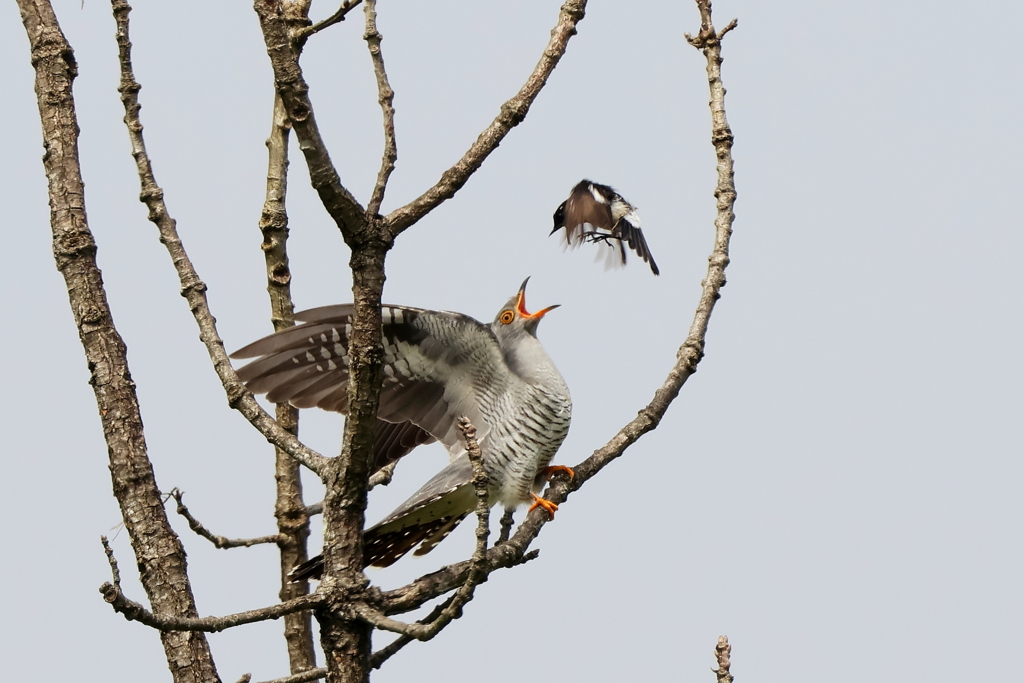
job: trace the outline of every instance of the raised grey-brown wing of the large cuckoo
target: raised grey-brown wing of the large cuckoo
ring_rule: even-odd
[[[231,354],[256,357],[239,370],[254,393],[296,408],[348,411],[351,304],[295,314],[303,322]],[[464,449],[456,421],[465,415],[484,442],[497,401],[515,377],[488,326],[468,315],[407,306],[381,307],[384,380],[376,463],[421,443],[441,441],[453,458]]]

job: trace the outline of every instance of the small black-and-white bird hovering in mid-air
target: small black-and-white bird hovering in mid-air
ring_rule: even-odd
[[[579,247],[585,242],[603,242],[618,252],[622,265],[626,265],[626,247],[629,246],[650,264],[655,275],[660,274],[640,230],[636,207],[608,185],[581,180],[569,198],[555,210],[554,219],[551,234],[564,227],[565,244],[569,247]],[[587,230],[585,225],[590,225],[591,229]]]

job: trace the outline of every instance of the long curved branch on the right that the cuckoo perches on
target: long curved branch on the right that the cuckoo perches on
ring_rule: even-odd
[[[615,434],[606,444],[595,451],[587,460],[574,466],[575,475],[571,479],[559,478],[544,493],[544,498],[559,505],[569,494],[581,488],[611,461],[618,458],[641,436],[660,423],[669,405],[679,395],[686,380],[696,372],[703,357],[708,325],[715,304],[725,286],[725,268],[729,264],[729,240],[732,222],[735,219],[732,208],[736,200],[732,171],[732,131],[725,118],[725,88],[722,85],[721,43],[719,35],[711,23],[711,5],[707,0],[697,0],[701,15],[700,49],[708,61],[708,82],[711,89],[712,144],[718,159],[718,183],[715,188],[718,213],[715,218],[715,246],[708,258],[708,273],[701,285],[689,333],[676,352],[676,364],[669,372],[662,386],[654,392],[651,401]],[[732,23],[730,23],[732,24]],[[691,39],[690,42],[692,42]],[[487,551],[488,571],[515,566],[530,557],[527,552],[530,543],[549,521],[548,515],[540,511],[529,514],[508,542]],[[460,562],[417,579],[412,584],[382,594],[383,613],[398,614],[417,609],[424,603],[458,588],[466,580],[469,563]]]

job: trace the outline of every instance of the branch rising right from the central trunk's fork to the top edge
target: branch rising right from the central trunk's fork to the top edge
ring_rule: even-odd
[[[566,0],[558,13],[558,23],[551,31],[551,40],[526,83],[512,99],[502,104],[498,117],[480,133],[462,159],[441,174],[440,180],[433,187],[387,215],[385,221],[392,236],[397,237],[439,204],[455,197],[490,153],[498,148],[509,131],[522,123],[537,95],[547,84],[551,72],[565,54],[569,38],[575,35],[575,27],[583,20],[586,9],[587,0]]]

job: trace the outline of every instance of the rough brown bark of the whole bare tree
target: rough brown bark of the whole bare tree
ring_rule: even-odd
[[[43,121],[44,164],[50,184],[51,222],[54,255],[65,275],[86,356],[92,372],[91,382],[111,453],[111,471],[115,495],[132,538],[142,572],[142,583],[152,610],[129,600],[120,589],[113,553],[111,565],[114,583],[104,584],[104,598],[116,611],[161,631],[167,657],[176,681],[216,681],[217,673],[202,633],[215,632],[242,624],[267,618],[286,620],[293,676],[279,681],[299,683],[326,677],[331,683],[361,683],[370,671],[379,667],[412,640],[428,640],[462,613],[475,587],[486,581],[492,571],[511,567],[536,557],[530,543],[549,520],[537,512],[523,520],[509,538],[511,520],[503,519],[499,544],[487,550],[487,508],[482,468],[477,470],[479,523],[477,547],[472,559],[443,567],[403,588],[381,592],[370,588],[361,571],[362,526],[371,474],[371,454],[380,392],[381,346],[380,301],[384,286],[384,264],[394,240],[440,203],[452,198],[500,144],[509,131],[527,115],[530,104],[547,83],[564,54],[577,25],[584,18],[586,0],[567,0],[559,11],[549,43],[525,84],[502,105],[494,122],[478,136],[465,155],[446,170],[438,181],[419,198],[381,216],[378,212],[388,178],[397,159],[394,136],[394,92],[384,68],[382,36],[376,26],[374,0],[345,0],[338,11],[317,25],[307,17],[309,0],[256,0],[254,8],[266,44],[273,73],[276,100],[273,127],[267,141],[269,161],[267,189],[260,229],[266,256],[271,319],[275,329],[291,325],[292,302],[289,293],[291,272],[286,240],[288,219],[285,208],[289,130],[294,130],[309,170],[310,181],[328,214],[335,220],[345,243],[351,249],[349,266],[353,279],[355,318],[350,336],[351,357],[349,414],[346,420],[342,453],[324,458],[296,438],[297,413],[278,407],[271,419],[256,403],[231,369],[217,334],[216,322],[206,299],[206,286],[199,279],[178,238],[174,220],[167,213],[163,191],[153,176],[142,140],[138,92],[131,67],[128,40],[128,12],[124,0],[112,0],[118,25],[118,45],[122,81],[120,91],[125,104],[125,123],[138,165],[141,200],[150,209],[150,218],[158,226],[178,273],[182,296],[186,298],[201,339],[206,345],[215,371],[223,383],[229,404],[241,412],[268,441],[276,447],[275,476],[278,535],[247,541],[228,541],[215,537],[190,516],[177,495],[179,511],[198,532],[218,547],[237,547],[275,542],[282,551],[282,603],[221,617],[199,617],[185,573],[184,552],[171,530],[161,501],[152,467],[145,454],[141,418],[134,387],[128,374],[124,343],[114,329],[108,309],[99,270],[95,265],[95,245],[89,232],[84,209],[81,173],[77,158],[78,127],[75,121],[71,83],[75,61],[52,9],[45,0],[18,0],[32,44],[33,65],[37,73],[37,93]],[[384,154],[377,182],[369,204],[364,208],[346,189],[331,161],[321,136],[308,96],[299,57],[305,41],[315,33],[344,19],[356,5],[365,8],[367,41],[378,85],[378,98],[384,122]],[[557,478],[545,497],[563,503],[573,492],[644,433],[659,424],[671,402],[686,380],[695,372],[703,355],[709,321],[720,290],[725,285],[729,262],[729,239],[732,232],[735,187],[732,181],[732,133],[725,118],[725,89],[721,81],[721,39],[735,28],[735,20],[716,32],[711,20],[711,4],[696,0],[701,27],[696,38],[686,35],[708,60],[711,88],[712,142],[718,159],[718,184],[715,196],[718,215],[715,221],[715,245],[709,258],[701,296],[686,340],[680,346],[676,364],[652,397],[629,424],[604,446],[577,465],[575,476]],[[470,453],[473,439],[470,426],[464,426]],[[476,455],[471,458],[478,458]],[[299,463],[306,465],[324,481],[327,494],[322,507],[325,515],[325,574],[315,594],[308,595],[304,585],[289,585],[285,572],[306,557],[308,516],[302,501]],[[416,624],[391,618],[429,600],[455,593]],[[310,610],[321,626],[321,640],[327,656],[325,669],[312,669]],[[392,644],[371,652],[370,636],[374,629],[401,634]],[[720,649],[721,649],[720,645]],[[726,646],[727,647],[727,644]],[[724,652],[724,671],[728,672],[728,650]],[[720,652],[721,654],[721,652]],[[723,669],[720,658],[720,671]],[[248,680],[246,678],[245,680]]]

